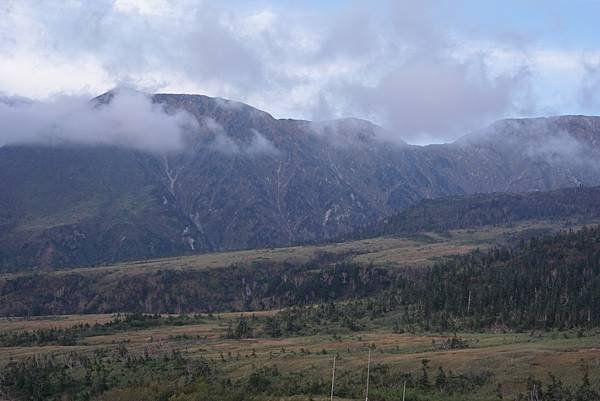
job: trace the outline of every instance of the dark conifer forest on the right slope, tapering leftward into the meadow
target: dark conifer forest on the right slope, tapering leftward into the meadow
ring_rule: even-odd
[[[366,299],[282,311],[261,332],[312,334],[332,324],[358,330],[383,316],[397,332],[598,327],[600,227],[413,270]]]

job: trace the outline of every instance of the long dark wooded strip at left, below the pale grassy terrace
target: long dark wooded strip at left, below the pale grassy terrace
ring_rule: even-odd
[[[393,275],[383,268],[318,261],[131,274],[32,274],[0,278],[0,316],[276,309],[367,297],[386,289]]]

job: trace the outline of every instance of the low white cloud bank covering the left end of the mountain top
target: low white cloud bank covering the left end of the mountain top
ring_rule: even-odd
[[[197,129],[186,112],[167,113],[146,94],[117,90],[108,103],[78,96],[0,100],[0,146],[118,145],[153,153],[179,151]]]

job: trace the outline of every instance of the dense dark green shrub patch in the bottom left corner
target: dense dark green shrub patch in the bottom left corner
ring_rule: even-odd
[[[0,395],[30,401],[87,401],[103,399],[111,389],[136,388],[138,398],[132,391],[127,399],[166,400],[175,392],[161,392],[156,383],[179,380],[185,386],[216,380],[216,373],[214,363],[205,358],[186,359],[175,350],[134,354],[120,344],[92,354],[72,352],[11,361],[0,372]]]

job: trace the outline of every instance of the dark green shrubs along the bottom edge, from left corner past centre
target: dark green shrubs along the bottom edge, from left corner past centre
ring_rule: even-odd
[[[398,384],[406,382],[409,400],[460,399],[487,384],[489,374],[460,375],[439,367],[433,372],[423,360],[421,372],[402,372],[385,365],[374,366],[370,376],[376,390],[373,400],[392,400],[400,395]],[[240,380],[224,379],[213,360],[186,359],[178,352],[133,356],[125,345],[99,349],[93,355],[71,353],[65,358],[32,358],[10,363],[0,375],[7,395],[42,400],[264,400],[266,397],[326,396],[330,383],[309,372],[285,374],[276,367],[257,369]],[[432,377],[430,377],[430,375]],[[337,394],[360,398],[366,372],[344,371],[337,380]],[[592,390],[593,391],[593,390]],[[597,394],[597,393],[596,393]],[[456,395],[457,397],[453,397]]]

